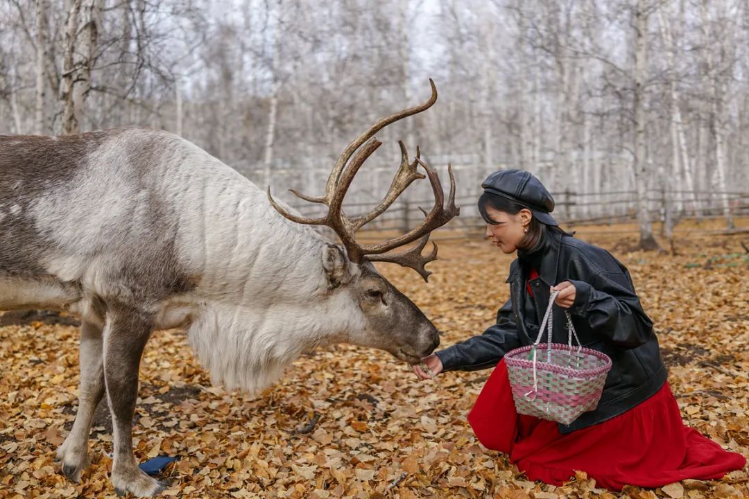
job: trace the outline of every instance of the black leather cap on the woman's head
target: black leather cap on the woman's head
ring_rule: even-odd
[[[541,180],[533,177],[530,171],[498,170],[486,177],[481,186],[484,192],[503,196],[526,206],[539,221],[547,225],[559,225],[554,217],[549,215],[554,211],[554,198]]]

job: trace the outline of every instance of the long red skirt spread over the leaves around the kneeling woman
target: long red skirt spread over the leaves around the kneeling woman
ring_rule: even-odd
[[[585,471],[597,486],[660,487],[688,478],[713,480],[746,465],[685,426],[666,382],[655,395],[619,416],[562,435],[554,421],[518,414],[505,361],[500,361],[468,414],[476,437],[509,455],[530,480],[560,486]]]

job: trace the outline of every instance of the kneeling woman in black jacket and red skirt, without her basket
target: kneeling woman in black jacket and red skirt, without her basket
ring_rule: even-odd
[[[561,485],[579,470],[618,491],[742,469],[743,456],[682,423],[652,321],[625,266],[561,230],[550,215],[554,199],[527,171],[496,171],[482,188],[487,237],[503,253],[518,251],[507,278],[510,299],[495,325],[424,358],[431,373],[414,366],[416,375],[496,366],[468,420],[485,447],[509,454],[531,480]],[[567,343],[566,309],[580,343],[613,362],[598,406],[569,425],[518,414],[503,361],[506,352],[533,343],[557,290],[554,343]]]

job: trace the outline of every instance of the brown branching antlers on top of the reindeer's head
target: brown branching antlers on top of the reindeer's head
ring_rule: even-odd
[[[380,203],[370,212],[356,218],[347,217],[343,212],[342,204],[343,198],[345,197],[349,186],[351,186],[351,181],[354,180],[357,171],[359,171],[366,159],[369,158],[369,156],[372,156],[372,153],[377,150],[377,147],[380,147],[382,144],[382,142],[378,141],[376,138],[372,138],[375,133],[383,129],[385,126],[388,126],[390,123],[394,123],[395,121],[402,120],[404,117],[425,111],[437,101],[437,88],[434,86],[434,82],[431,79],[429,79],[429,84],[431,85],[431,97],[429,100],[421,105],[416,105],[412,108],[407,108],[403,111],[383,117],[381,120],[377,121],[377,123],[370,126],[366,132],[355,138],[354,141],[343,150],[336,165],[333,167],[333,171],[330,172],[330,177],[328,177],[325,186],[324,196],[307,196],[294,189],[289,189],[298,198],[312,203],[323,203],[328,206],[327,215],[319,218],[293,215],[273,200],[273,197],[270,195],[270,187],[268,187],[268,199],[273,207],[286,218],[296,221],[297,223],[327,225],[332,228],[341,238],[341,241],[348,252],[349,259],[354,263],[362,263],[364,260],[372,262],[398,263],[401,266],[407,266],[416,270],[416,272],[419,272],[422,278],[427,281],[431,272],[425,270],[424,266],[426,263],[437,259],[437,245],[434,242],[432,242],[432,245],[434,246],[430,254],[426,256],[421,254],[422,249],[428,242],[429,234],[437,227],[446,224],[451,218],[455,217],[460,212],[460,208],[455,206],[455,177],[452,175],[451,166],[448,165],[450,193],[447,206],[445,207],[445,195],[442,189],[442,184],[440,183],[440,178],[437,176],[437,172],[422,161],[418,147],[416,147],[416,159],[414,159],[413,162],[408,162],[406,147],[402,141],[398,141],[398,144],[401,147],[401,165],[400,168],[398,168],[383,200],[381,200]],[[357,149],[360,147],[361,149],[357,152]],[[357,152],[356,155],[354,155],[354,152]],[[353,159],[351,159],[352,155],[354,156]],[[349,162],[349,159],[351,159],[351,162]],[[427,213],[422,209],[422,212],[424,212],[426,216],[424,221],[408,233],[398,236],[395,239],[389,239],[375,245],[360,245],[357,243],[355,239],[357,230],[385,212],[385,210],[392,205],[395,199],[397,199],[414,180],[425,178],[424,175],[417,171],[419,165],[421,165],[426,171],[426,174],[429,177],[429,182],[431,183],[432,192],[434,192],[434,206],[431,211]],[[409,251],[393,255],[383,255],[386,251],[407,245],[417,239],[419,239],[419,244],[414,248],[411,248]]]

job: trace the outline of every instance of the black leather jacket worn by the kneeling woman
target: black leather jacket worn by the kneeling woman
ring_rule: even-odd
[[[539,278],[530,281],[531,297],[526,279],[533,257]],[[667,378],[652,321],[640,306],[629,272],[608,251],[571,236],[546,233],[539,251],[512,262],[507,278],[510,299],[497,312],[497,324],[437,356],[443,371],[496,366],[506,352],[536,340],[550,287],[562,281],[571,281],[577,290],[569,312],[580,343],[606,353],[613,362],[598,407],[569,425],[559,425],[560,432],[569,433],[633,408],[654,395]],[[555,306],[552,316],[552,340],[567,343],[564,310]]]

